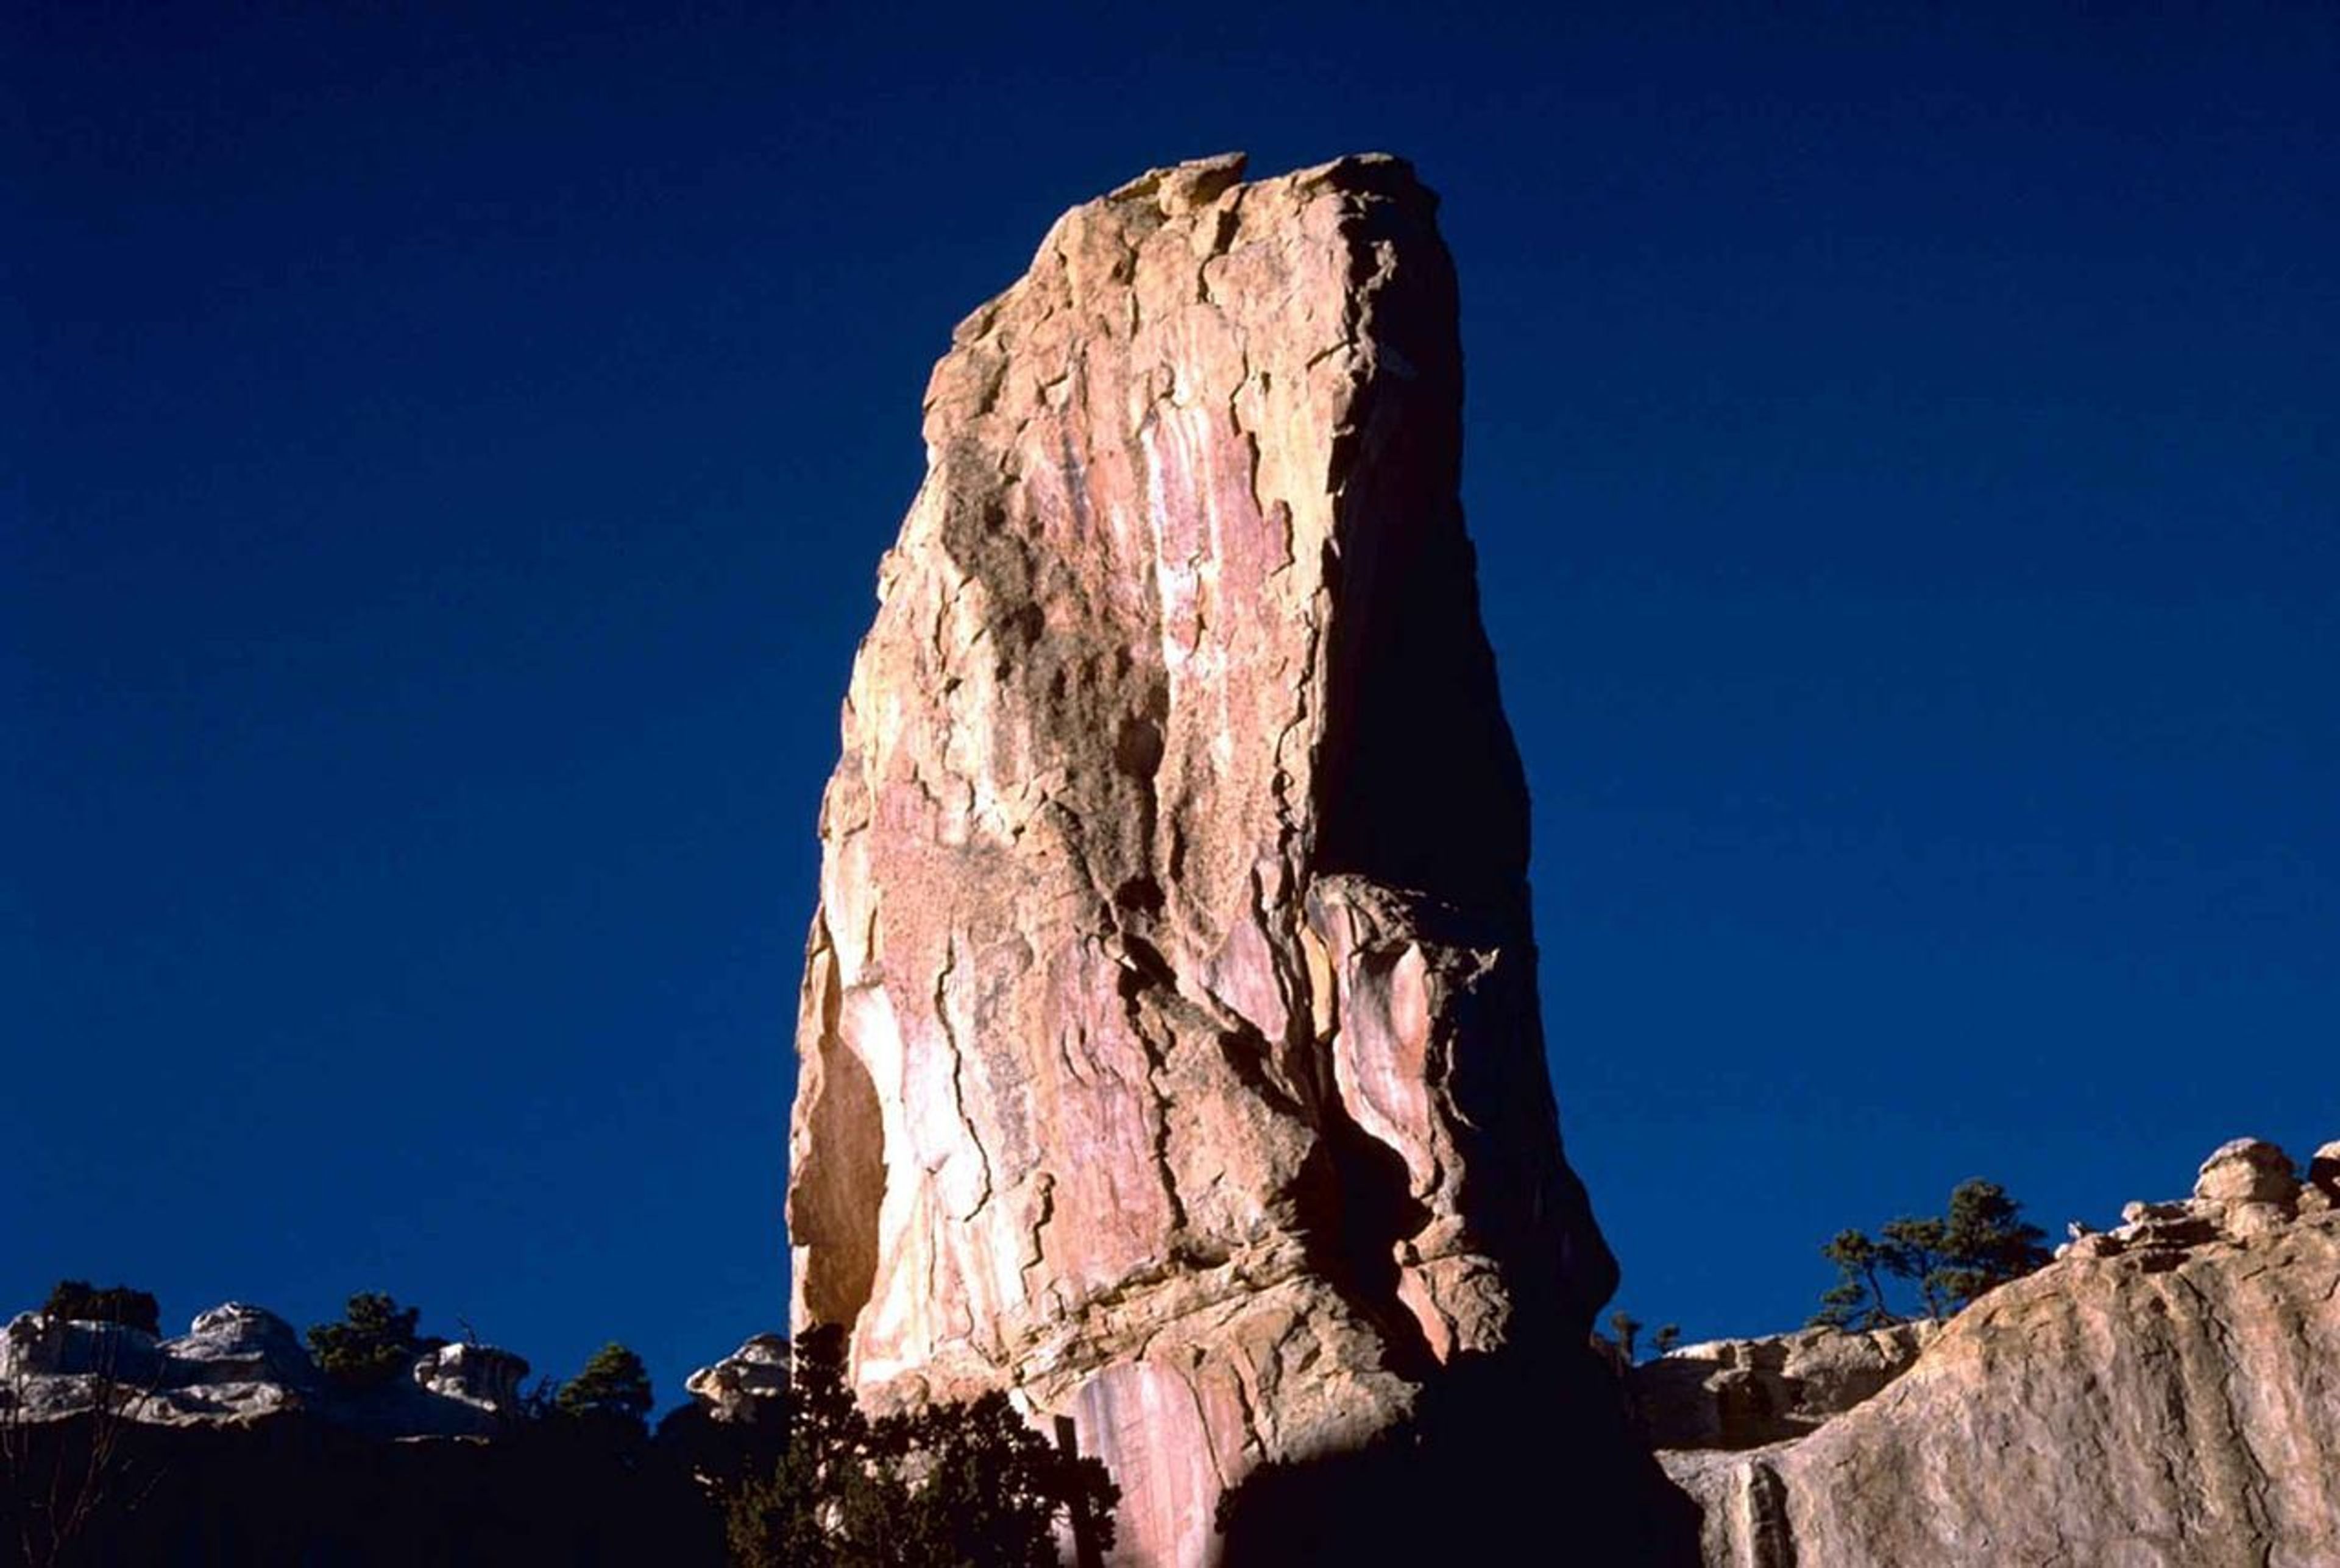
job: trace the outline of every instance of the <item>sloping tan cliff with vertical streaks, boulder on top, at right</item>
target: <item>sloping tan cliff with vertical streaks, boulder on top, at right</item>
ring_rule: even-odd
[[[2197,1198],[2129,1205],[1811,1437],[1664,1453],[1706,1561],[2340,1563],[2335,1187],[2324,1151],[2303,1189],[2237,1140]]]

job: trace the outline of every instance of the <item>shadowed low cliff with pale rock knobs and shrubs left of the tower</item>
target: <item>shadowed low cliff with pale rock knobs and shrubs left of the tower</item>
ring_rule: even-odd
[[[526,1362],[494,1346],[346,1388],[257,1306],[178,1339],[21,1313],[0,1329],[0,1542],[30,1563],[714,1568],[704,1479],[770,1467],[784,1362],[751,1339],[646,1439],[531,1418]]]

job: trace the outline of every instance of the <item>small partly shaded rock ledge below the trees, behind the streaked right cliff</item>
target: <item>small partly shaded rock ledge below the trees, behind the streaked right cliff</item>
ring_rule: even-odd
[[[1940,1332],[1802,1329],[1682,1346],[1626,1371],[1633,1414],[1657,1449],[1755,1449],[1802,1437],[1909,1371]]]

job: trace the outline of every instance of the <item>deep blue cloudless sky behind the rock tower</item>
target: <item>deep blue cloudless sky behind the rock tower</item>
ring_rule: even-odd
[[[1626,1285],[2340,1137],[2328,7],[5,23],[0,1306],[784,1318],[814,805],[950,325],[1411,157]]]

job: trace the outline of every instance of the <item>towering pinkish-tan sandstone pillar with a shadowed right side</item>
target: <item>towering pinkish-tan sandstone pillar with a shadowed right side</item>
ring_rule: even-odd
[[[1561,1158],[1434,197],[1154,171],[952,335],[798,1020],[793,1325],[1016,1388],[1217,1554],[1264,1460],[1615,1285]],[[1565,1416],[1561,1418],[1565,1421]],[[1549,1425],[1549,1418],[1547,1418]]]

